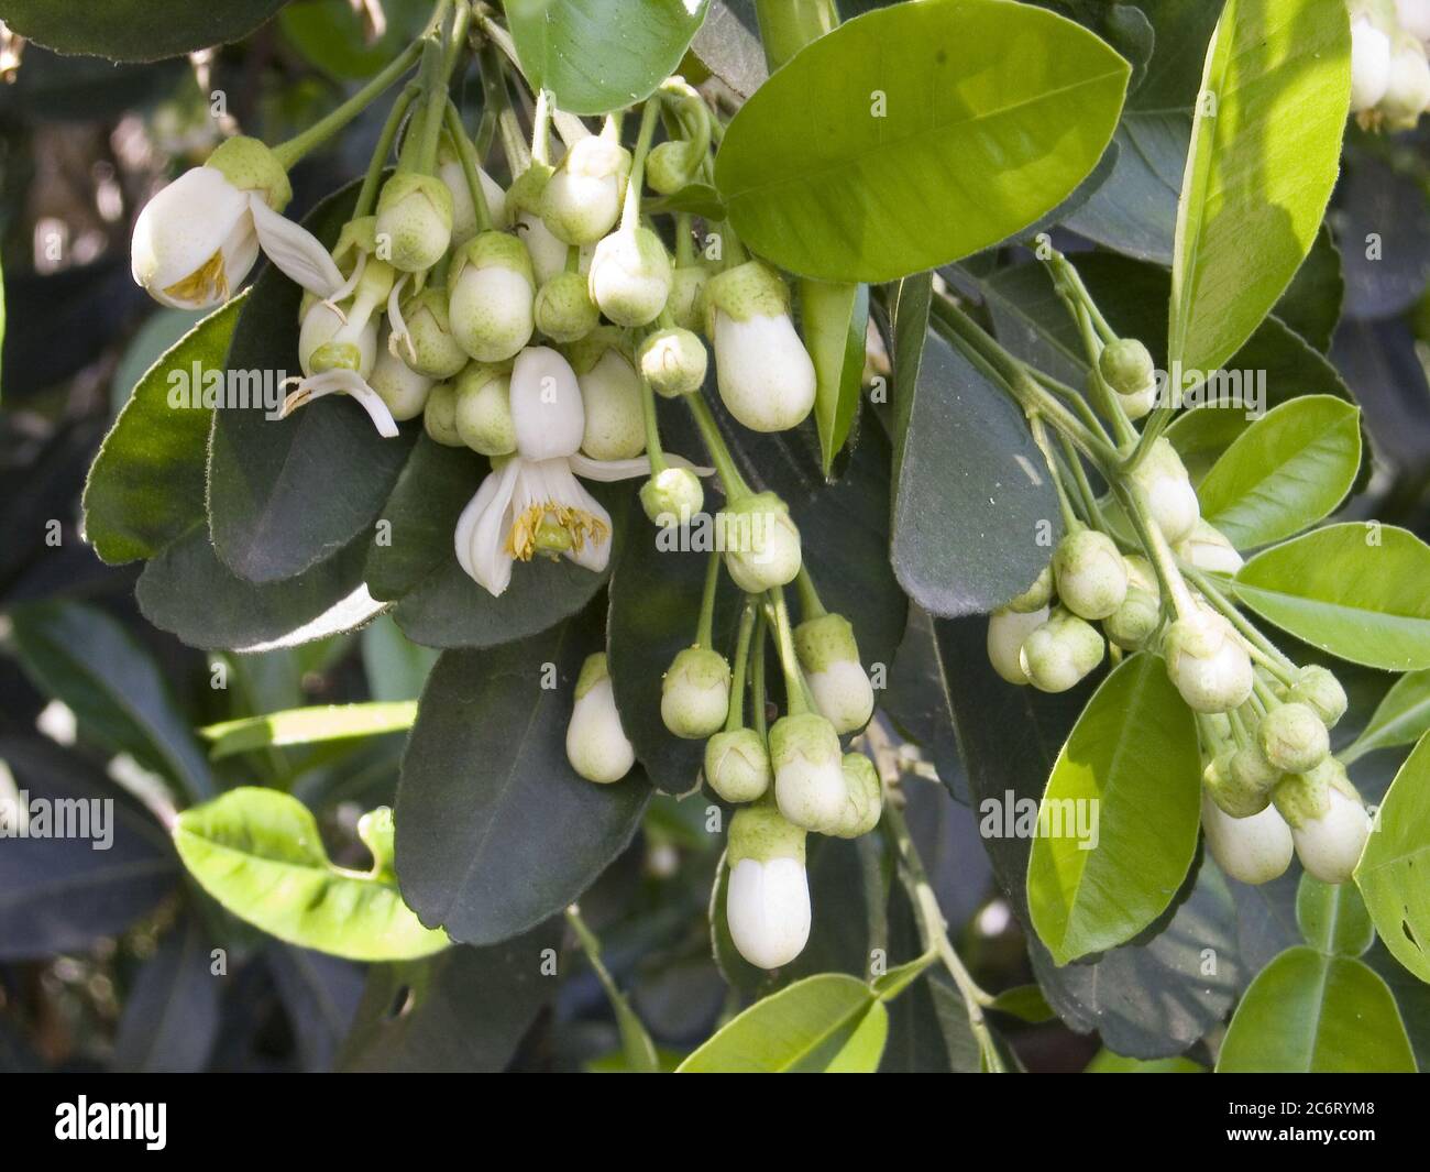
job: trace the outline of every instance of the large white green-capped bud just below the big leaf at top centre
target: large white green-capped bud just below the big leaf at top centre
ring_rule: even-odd
[[[797,426],[814,406],[815,371],[794,319],[789,290],[762,260],[746,260],[705,286],[705,332],[729,414],[751,431]]]

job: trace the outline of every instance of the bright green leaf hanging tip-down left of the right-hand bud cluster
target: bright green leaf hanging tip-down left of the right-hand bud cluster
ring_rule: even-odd
[[[1160,657],[1133,655],[1078,718],[1038,811],[1028,904],[1058,965],[1130,940],[1167,909],[1197,851],[1200,809],[1191,711]]]

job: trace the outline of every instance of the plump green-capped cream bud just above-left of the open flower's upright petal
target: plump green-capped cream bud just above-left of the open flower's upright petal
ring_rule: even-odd
[[[448,273],[452,336],[478,362],[506,362],[536,326],[526,246],[506,232],[482,232],[458,249]]]

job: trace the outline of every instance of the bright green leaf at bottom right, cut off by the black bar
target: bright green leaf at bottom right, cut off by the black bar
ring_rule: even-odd
[[[1217,1073],[1377,1070],[1416,1070],[1386,982],[1360,960],[1301,944],[1251,982],[1217,1058]]]

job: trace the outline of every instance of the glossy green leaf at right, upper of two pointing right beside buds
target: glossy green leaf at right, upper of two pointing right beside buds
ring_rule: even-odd
[[[1327,517],[1360,471],[1360,411],[1330,395],[1281,404],[1227,448],[1197,489],[1201,515],[1238,550]]]

